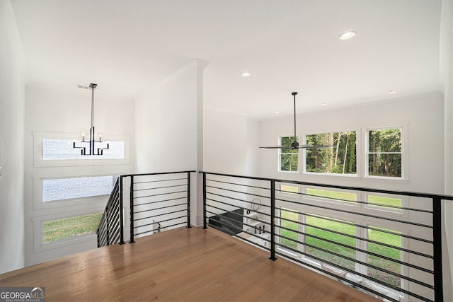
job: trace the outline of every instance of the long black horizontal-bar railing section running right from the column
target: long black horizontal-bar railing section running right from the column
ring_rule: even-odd
[[[225,226],[271,260],[389,301],[444,301],[442,203],[452,196],[202,174],[204,228]]]

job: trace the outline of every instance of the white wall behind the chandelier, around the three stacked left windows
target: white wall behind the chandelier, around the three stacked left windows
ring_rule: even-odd
[[[86,83],[88,85],[89,83]],[[113,137],[134,139],[134,101],[130,98],[104,94],[98,83],[94,101],[94,126],[96,134],[103,139]],[[70,163],[65,167],[42,167],[34,161],[34,153],[42,152],[33,143],[33,133],[59,132],[70,138],[81,139],[81,133],[88,137],[91,127],[91,90],[62,88],[41,83],[29,83],[26,88],[25,103],[25,265],[62,257],[83,250],[96,248],[96,236],[74,239],[55,245],[43,245],[40,240],[40,221],[62,219],[70,216],[101,212],[108,197],[76,200],[67,204],[40,205],[36,182],[41,177],[77,177],[90,175],[117,175],[132,173],[133,148],[129,158],[119,164],[111,161],[93,160],[89,165],[81,162]],[[59,135],[59,134],[58,134]],[[127,154],[126,154],[127,156]],[[101,162],[99,162],[101,161]],[[85,163],[85,162],[84,162]]]

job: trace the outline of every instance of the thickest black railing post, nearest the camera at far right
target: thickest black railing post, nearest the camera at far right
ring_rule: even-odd
[[[432,199],[432,253],[434,261],[434,301],[444,301],[442,284],[442,199]]]

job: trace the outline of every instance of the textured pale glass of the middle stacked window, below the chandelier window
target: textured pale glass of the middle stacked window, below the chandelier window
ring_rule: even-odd
[[[42,180],[42,201],[64,200],[110,194],[113,176]]]

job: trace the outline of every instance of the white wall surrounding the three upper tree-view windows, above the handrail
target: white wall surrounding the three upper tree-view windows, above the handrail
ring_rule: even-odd
[[[408,129],[408,180],[372,180],[363,177],[344,178],[329,175],[306,175],[277,172],[277,150],[261,150],[261,175],[309,182],[360,187],[385,186],[388,190],[415,192],[444,192],[444,128],[443,98],[440,93],[416,95],[411,98],[394,99],[391,102],[368,103],[348,108],[308,112],[297,116],[297,134],[357,131],[357,140],[365,138],[364,127],[407,125]],[[292,116],[261,121],[260,144],[272,146],[278,137],[294,133]],[[302,141],[302,139],[299,139]],[[357,144],[357,157],[364,150]],[[365,167],[362,167],[362,170]],[[360,167],[357,165],[357,170]],[[359,171],[360,173],[360,171]],[[362,173],[363,174],[363,173]]]

